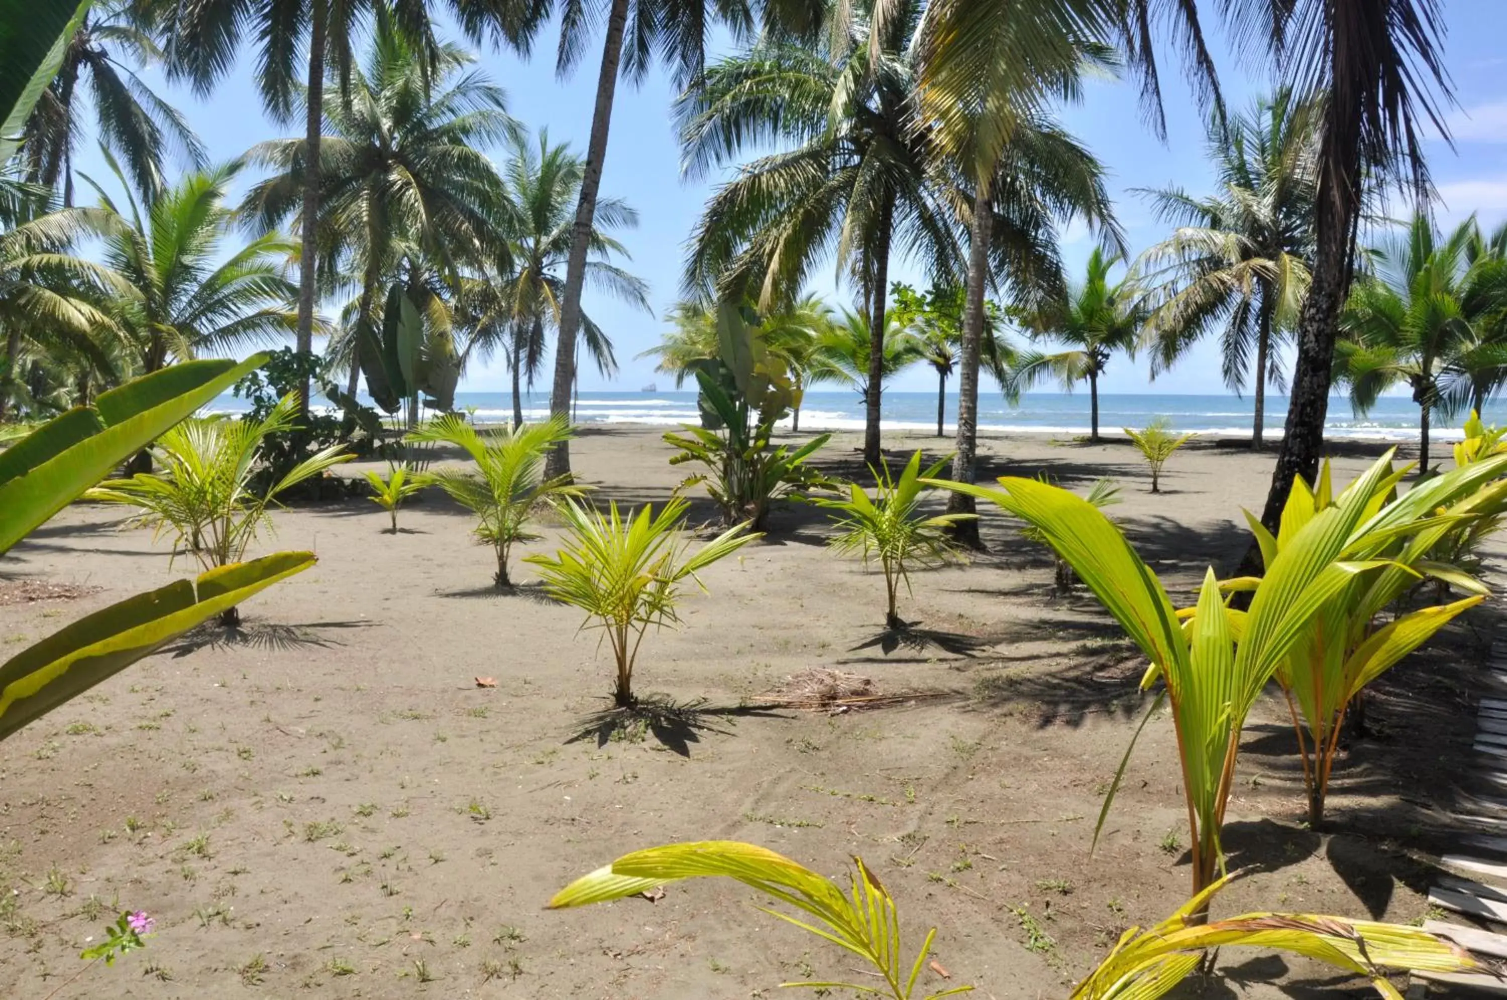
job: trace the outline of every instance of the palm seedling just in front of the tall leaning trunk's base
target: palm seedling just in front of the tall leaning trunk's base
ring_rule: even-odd
[[[508,575],[512,547],[538,538],[529,532],[538,508],[585,492],[583,486],[571,483],[568,474],[544,477],[546,456],[568,437],[570,425],[564,417],[482,435],[466,417],[446,414],[407,438],[454,444],[476,462],[475,470],[439,468],[429,471],[428,477],[476,515],[476,538],[491,545],[497,556],[493,581],[499,589],[512,586]]]

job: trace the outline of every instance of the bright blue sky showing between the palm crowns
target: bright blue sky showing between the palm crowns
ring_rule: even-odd
[[[1450,108],[1448,114],[1454,149],[1442,142],[1430,143],[1430,167],[1442,199],[1441,221],[1457,221],[1475,211],[1483,224],[1495,224],[1507,220],[1507,57],[1501,54],[1507,3],[1445,0],[1444,6],[1448,27],[1447,65],[1459,107]],[[509,110],[515,117],[533,130],[547,127],[553,140],[568,142],[585,152],[600,50],[582,59],[571,78],[558,80],[553,38],[541,41],[544,44],[536,47],[530,62],[520,60],[512,53],[484,50],[481,66],[506,89]],[[1264,78],[1252,77],[1234,59],[1224,53],[1219,56],[1221,81],[1231,104],[1243,107],[1269,87]],[[231,78],[208,99],[163,86],[157,72],[149,71],[145,77],[184,110],[211,157],[229,158],[264,139],[301,133],[301,128],[273,123],[262,114],[252,87],[250,63],[249,56],[243,59]],[[1157,140],[1145,127],[1136,87],[1130,81],[1096,81],[1090,84],[1081,105],[1062,113],[1067,127],[1108,169],[1109,188],[1132,253],[1165,236],[1165,229],[1151,217],[1144,200],[1132,193],[1133,188],[1177,184],[1201,193],[1209,185],[1203,161],[1204,114],[1185,87],[1185,74],[1177,60],[1163,59],[1162,66],[1166,142]],[[642,87],[618,87],[612,142],[601,182],[603,194],[625,197],[639,209],[639,227],[622,233],[622,241],[633,255],[627,267],[651,285],[657,315],[663,315],[677,297],[683,242],[716,181],[681,181],[669,116],[672,98],[674,87],[660,71],[651,74]],[[86,164],[95,158],[84,157]],[[84,169],[89,170],[89,166]],[[1064,253],[1074,271],[1088,256],[1091,242],[1078,229],[1064,233]],[[904,261],[897,261],[894,271],[897,280],[922,283],[922,276]],[[835,267],[821,268],[814,291],[827,295],[833,304],[847,304],[851,292],[841,288],[835,277]],[[616,343],[622,372],[615,386],[637,389],[656,381],[653,361],[636,360],[636,355],[659,340],[662,322],[612,300],[594,297],[589,291],[586,309]],[[934,383],[928,370],[904,373],[892,387],[931,390]],[[461,389],[488,392],[502,390],[506,384],[506,369],[497,360],[488,367],[473,367]],[[607,387],[595,370],[583,369],[582,389]],[[1127,393],[1222,392],[1218,354],[1212,345],[1195,349],[1154,384],[1148,381],[1144,360],[1115,358],[1103,389]]]

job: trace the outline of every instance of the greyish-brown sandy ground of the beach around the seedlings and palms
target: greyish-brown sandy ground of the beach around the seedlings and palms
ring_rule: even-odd
[[[835,437],[823,467],[857,474],[857,443]],[[946,446],[886,438],[892,456]],[[981,450],[981,479],[1046,473],[1078,491],[1114,479],[1112,517],[1180,605],[1207,565],[1239,560],[1240,506],[1260,511],[1273,461],[1195,441],[1153,495],[1124,443],[1011,435]],[[1346,446],[1337,482],[1377,453]],[[598,497],[628,505],[672,494],[684,470],[669,455],[651,428],[588,429],[573,444]],[[711,520],[693,495],[692,521]],[[188,571],[119,521],[74,506],[11,551],[5,648]],[[536,587],[497,593],[469,515],[437,491],[401,512],[398,535],[366,498],[274,521],[259,551],[310,548],[319,565],[249,604],[241,639],[179,642],[5,742],[9,995],[48,995],[101,914],[122,907],[157,916],[151,947],[59,997],[731,1000],[853,974],[856,962],[731,884],[543,908],[618,854],[690,839],[763,843],[829,875],[862,855],[900,901],[909,949],[937,928],[927,989],[975,983],[999,1000],[1065,997],[1127,926],[1186,898],[1166,718],[1147,726],[1090,854],[1148,705],[1144,661],[1091,595],[1052,596],[1049,553],[998,511],[984,512],[987,554],[913,575],[901,614],[931,639],[885,652],[870,642],[882,578],[824,547],[823,512],[782,508],[769,538],[704,574],[710,593],[687,599],[683,630],[645,640],[636,687],[699,712],[606,742],[582,723],[609,687],[597,634]],[[520,554],[550,550],[555,527],[543,535]],[[1477,697],[1487,607],[1376,688],[1374,735],[1341,762],[1329,836],[1301,822],[1287,708],[1269,693],[1225,828],[1231,869],[1251,873],[1216,914],[1427,914],[1420,889],[1430,852],[1448,848],[1438,821],[1469,750],[1450,723]],[[904,697],[839,714],[770,703],[812,667]],[[1275,995],[1273,980],[1295,997],[1364,986],[1269,955],[1221,964],[1212,988],[1239,995]]]

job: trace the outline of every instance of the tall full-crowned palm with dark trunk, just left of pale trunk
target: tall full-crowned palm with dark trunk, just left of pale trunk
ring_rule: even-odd
[[[913,119],[910,36],[922,3],[901,8],[876,45],[865,41],[865,20],[842,24],[833,12],[817,48],[769,42],[720,60],[677,108],[690,176],[778,146],[708,202],[686,285],[747,295],[767,309],[803,286],[818,261],[835,258],[873,336],[870,386],[883,383],[891,256],[900,250],[937,279],[954,276],[960,261],[930,142]],[[865,404],[864,456],[877,464],[880,393]]]

